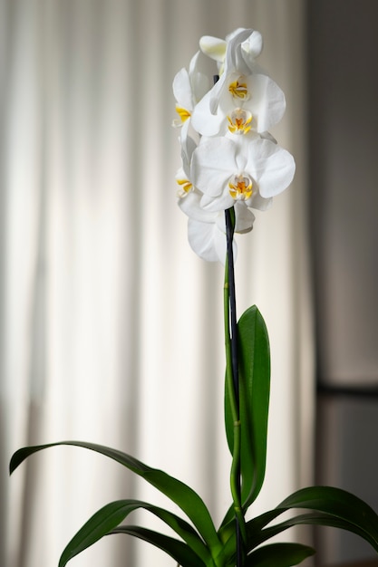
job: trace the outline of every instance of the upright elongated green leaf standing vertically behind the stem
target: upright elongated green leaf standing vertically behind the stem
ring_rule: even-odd
[[[242,502],[247,509],[264,482],[267,459],[267,417],[270,389],[270,352],[267,327],[256,305],[237,323],[241,427]],[[228,389],[225,392],[225,424],[233,454],[234,423]],[[225,518],[226,523],[232,512]]]

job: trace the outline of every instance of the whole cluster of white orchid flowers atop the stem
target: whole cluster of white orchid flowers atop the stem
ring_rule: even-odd
[[[189,217],[189,244],[210,262],[226,260],[225,210],[235,212],[235,232],[252,230],[251,209],[267,210],[294,177],[295,161],[269,129],[281,120],[283,91],[256,62],[262,37],[238,28],[225,40],[204,36],[173,82],[179,112],[182,166],[176,175],[179,207]],[[200,56],[217,62],[210,87]],[[177,122],[176,122],[177,125]],[[235,240],[234,253],[237,252]]]

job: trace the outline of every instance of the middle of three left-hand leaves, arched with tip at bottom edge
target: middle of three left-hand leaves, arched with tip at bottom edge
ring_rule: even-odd
[[[189,544],[198,559],[208,562],[210,554],[199,534],[188,523],[179,516],[162,508],[150,505],[140,500],[118,500],[105,505],[92,515],[82,528],[73,536],[73,539],[63,551],[59,567],[64,565],[78,553],[98,542],[104,535],[111,533],[123,520],[134,510],[143,508],[158,516],[165,524],[169,525],[182,539]]]

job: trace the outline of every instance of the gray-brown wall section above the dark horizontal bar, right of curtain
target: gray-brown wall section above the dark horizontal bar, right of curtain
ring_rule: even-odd
[[[378,2],[309,4],[320,377],[378,385]]]

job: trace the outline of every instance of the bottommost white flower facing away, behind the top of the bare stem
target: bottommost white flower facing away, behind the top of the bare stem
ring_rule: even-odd
[[[227,253],[226,221],[224,211],[210,212],[200,207],[201,193],[192,190],[179,200],[179,207],[189,216],[188,239],[192,250],[208,262],[225,264]],[[252,230],[255,216],[244,203],[237,203],[235,210],[235,232]],[[237,244],[233,241],[233,252],[237,256]]]

